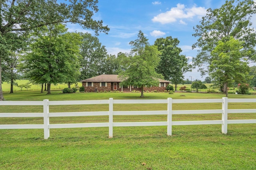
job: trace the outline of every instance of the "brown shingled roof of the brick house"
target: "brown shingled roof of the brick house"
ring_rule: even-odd
[[[167,80],[159,79],[160,83],[170,83]],[[101,74],[92,78],[87,78],[81,82],[121,82],[117,74]]]

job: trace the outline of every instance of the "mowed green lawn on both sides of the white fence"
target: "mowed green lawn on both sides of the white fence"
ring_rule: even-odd
[[[9,101],[141,99],[140,93],[76,93],[51,95],[39,91],[4,93]],[[146,99],[209,99],[223,94],[145,93]],[[228,98],[256,98],[232,95]],[[221,109],[221,104],[174,104],[174,110]],[[254,103],[229,104],[229,109],[256,109]],[[166,104],[119,104],[114,110],[166,110]],[[51,106],[50,112],[106,111],[108,105]],[[42,106],[0,106],[1,113],[42,112]],[[173,121],[220,120],[221,114],[173,115]],[[256,113],[229,114],[228,119],[256,119]],[[114,122],[166,121],[166,115],[114,116]],[[51,117],[50,123],[107,122],[107,116]],[[0,124],[42,124],[42,118],[0,118]],[[0,129],[0,169],[256,169],[256,124],[230,124],[228,134],[221,125],[167,127],[108,127],[50,129]]]

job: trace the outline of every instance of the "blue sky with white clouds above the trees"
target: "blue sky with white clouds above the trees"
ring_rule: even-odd
[[[180,41],[179,47],[183,55],[189,58],[197,54],[192,50],[192,44],[197,38],[193,37],[193,27],[199,24],[208,8],[220,8],[225,0],[99,0],[99,11],[94,15],[95,20],[103,20],[110,31],[108,35],[100,33],[98,36],[108,54],[130,52],[129,42],[137,39],[139,30],[149,39],[150,45],[160,37],[172,36]],[[256,17],[253,18],[255,21]],[[254,27],[256,23],[253,23]],[[69,31],[89,32],[78,25],[67,24]],[[255,64],[253,64],[255,65]],[[189,80],[204,80],[200,72],[194,69],[184,74]]]

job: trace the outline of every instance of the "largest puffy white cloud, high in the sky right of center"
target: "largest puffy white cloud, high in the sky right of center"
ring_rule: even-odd
[[[171,8],[169,11],[154,16],[152,21],[162,24],[176,22],[178,19],[192,19],[195,16],[202,17],[206,15],[204,7],[185,8],[184,4],[177,4],[177,7]],[[181,20],[182,21],[182,20]],[[184,21],[181,22],[184,24]]]

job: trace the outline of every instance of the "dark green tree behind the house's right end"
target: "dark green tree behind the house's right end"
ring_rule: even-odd
[[[192,65],[188,64],[188,59],[185,55],[180,55],[182,50],[178,47],[180,41],[172,37],[158,38],[154,45],[158,47],[161,52],[160,63],[156,72],[162,74],[165,80],[170,80],[175,84],[175,91],[177,84],[184,84],[185,72],[191,71]]]

